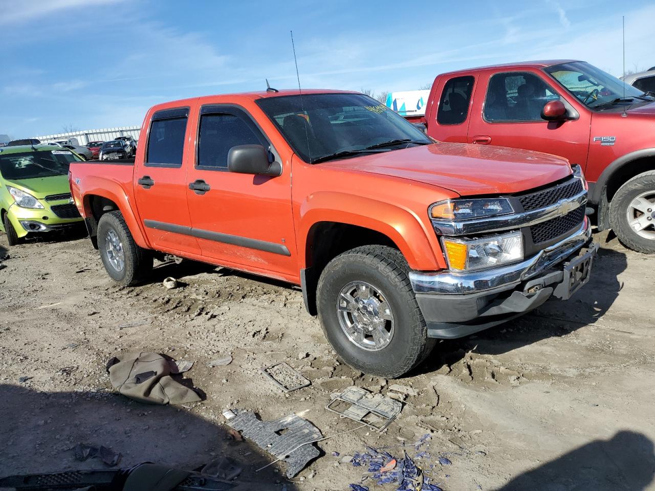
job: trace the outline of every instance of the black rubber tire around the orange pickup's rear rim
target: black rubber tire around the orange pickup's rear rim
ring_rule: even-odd
[[[122,251],[122,268],[111,263],[107,251],[107,234],[115,234]],[[124,286],[139,283],[153,268],[153,255],[134,242],[120,211],[110,211],[98,221],[98,249],[111,279]]]

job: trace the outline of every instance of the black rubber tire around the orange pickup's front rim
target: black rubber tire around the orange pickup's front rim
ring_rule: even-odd
[[[318,318],[327,340],[350,367],[371,375],[396,378],[421,363],[434,348],[436,340],[427,337],[408,271],[400,251],[383,245],[364,245],[335,257],[321,273],[316,291]],[[373,285],[391,307],[394,333],[378,351],[358,346],[341,328],[337,299],[341,290],[352,282]]]

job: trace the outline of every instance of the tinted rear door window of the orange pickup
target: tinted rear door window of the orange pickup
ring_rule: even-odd
[[[147,155],[149,166],[179,167],[182,165],[188,109],[155,113],[150,124]]]

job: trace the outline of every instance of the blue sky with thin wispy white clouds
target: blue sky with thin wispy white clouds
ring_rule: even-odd
[[[479,65],[655,65],[650,1],[0,0],[0,134],[141,124],[148,107],[297,86],[413,90]]]

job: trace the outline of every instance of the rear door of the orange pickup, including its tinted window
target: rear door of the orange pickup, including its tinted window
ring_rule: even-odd
[[[189,107],[157,111],[147,128],[147,145],[136,159],[134,196],[153,249],[172,254],[200,253],[191,236],[187,205]]]

